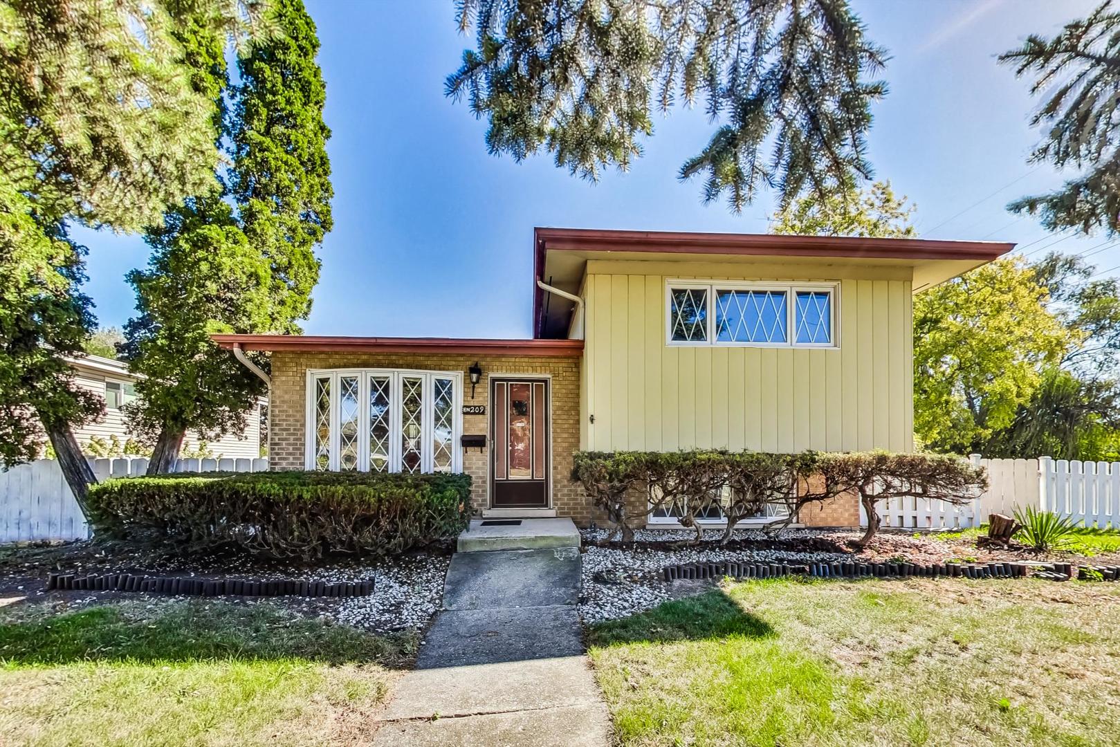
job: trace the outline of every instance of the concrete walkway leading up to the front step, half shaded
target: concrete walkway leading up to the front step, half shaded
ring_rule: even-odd
[[[444,610],[373,744],[608,745],[576,613],[579,564],[578,548],[456,553]]]

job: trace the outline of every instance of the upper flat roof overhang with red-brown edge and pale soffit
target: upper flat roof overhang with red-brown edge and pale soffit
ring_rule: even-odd
[[[538,227],[533,235],[535,280],[570,293],[579,292],[588,260],[909,268],[913,272],[913,290],[917,293],[1015,249],[1014,243],[992,241],[680,231]],[[545,315],[542,312],[545,308],[545,293],[540,287],[535,287],[535,336],[541,335],[545,324],[549,328],[567,328],[564,319],[570,314],[571,302],[552,298],[548,304],[551,308]]]

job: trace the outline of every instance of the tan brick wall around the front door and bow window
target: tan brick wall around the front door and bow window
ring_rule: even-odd
[[[467,368],[478,361],[483,379],[470,396]],[[491,374],[549,374],[552,398],[552,506],[559,516],[577,524],[590,521],[584,488],[571,480],[571,457],[579,449],[580,358],[534,356],[476,356],[437,353],[272,353],[272,402],[269,464],[272,469],[304,469],[306,450],[307,371],[309,368],[413,368],[463,372],[464,404],[488,405]],[[464,433],[487,433],[489,407],[483,415],[463,415]],[[487,438],[487,443],[491,439]],[[455,445],[455,448],[461,448]],[[463,451],[463,469],[474,479],[475,507],[487,506],[487,452]]]

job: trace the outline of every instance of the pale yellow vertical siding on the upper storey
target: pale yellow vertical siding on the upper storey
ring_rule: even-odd
[[[841,280],[839,349],[805,349],[666,345],[666,277],[586,279],[585,448],[913,448],[909,280]]]

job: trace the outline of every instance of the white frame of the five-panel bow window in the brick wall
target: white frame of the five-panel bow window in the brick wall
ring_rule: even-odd
[[[357,471],[370,471],[370,377],[383,376],[390,380],[390,413],[389,413],[389,471],[401,471],[401,448],[402,411],[401,402],[401,379],[421,377],[423,379],[422,394],[423,412],[420,424],[420,471],[433,471],[432,464],[432,437],[435,431],[435,379],[450,379],[452,381],[452,403],[451,403],[451,471],[463,471],[463,449],[459,440],[463,436],[463,372],[459,371],[421,371],[412,368],[309,368],[307,371],[306,387],[306,411],[304,413],[305,423],[305,469],[315,470],[315,391],[316,381],[319,379],[330,380],[330,460],[326,471],[340,471],[338,468],[339,458],[339,405],[340,387],[339,380],[357,377],[358,399],[358,436],[357,436]]]

